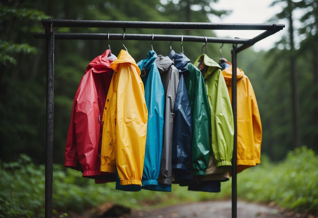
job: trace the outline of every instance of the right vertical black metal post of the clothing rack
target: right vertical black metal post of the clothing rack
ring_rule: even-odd
[[[236,92],[236,45],[232,53],[232,111],[234,119],[234,141],[232,156],[232,218],[237,218],[237,92]]]

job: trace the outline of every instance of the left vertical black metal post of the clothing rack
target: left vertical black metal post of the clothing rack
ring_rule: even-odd
[[[53,203],[53,115],[54,115],[54,31],[45,30],[46,38],[46,158],[45,218],[52,218]],[[50,34],[49,34],[50,33]]]

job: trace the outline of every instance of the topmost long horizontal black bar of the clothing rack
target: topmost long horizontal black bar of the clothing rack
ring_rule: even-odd
[[[147,22],[147,21],[107,21],[107,20],[61,20],[42,19],[43,26],[53,27],[102,27],[102,28],[145,28],[181,30],[282,30],[285,24],[226,24],[189,22]]]

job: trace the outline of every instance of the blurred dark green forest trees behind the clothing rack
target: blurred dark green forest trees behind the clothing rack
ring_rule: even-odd
[[[45,161],[45,40],[33,33],[44,31],[41,18],[88,20],[135,20],[213,22],[208,16],[229,14],[214,10],[217,0],[117,0],[30,1],[0,3],[0,158],[16,160],[28,154]],[[288,150],[307,145],[318,151],[318,11],[317,0],[280,0],[282,12],[275,22],[288,24],[292,12],[300,11],[301,28],[290,28],[269,51],[252,48],[238,55],[238,67],[250,78],[263,125],[262,152],[281,160]],[[274,4],[273,3],[273,4]],[[251,23],[253,21],[251,20]],[[54,24],[53,24],[54,26]],[[286,28],[288,28],[287,25]],[[122,33],[121,29],[53,28],[55,32]],[[293,30],[293,34],[291,34]],[[127,29],[126,33],[215,36],[213,31]],[[293,45],[292,37],[300,39]],[[121,41],[110,41],[112,52]],[[125,41],[136,62],[147,57],[148,41]],[[201,54],[200,43],[184,42],[184,53],[192,61]],[[154,42],[157,54],[168,55],[169,42]],[[220,44],[208,44],[207,54],[218,61]],[[65,140],[73,98],[86,66],[108,48],[107,40],[55,41],[54,162],[64,162]],[[172,48],[181,51],[180,43]],[[231,45],[222,49],[231,60]],[[298,97],[297,97],[298,96]],[[298,103],[297,103],[298,102]],[[299,109],[297,109],[297,106]],[[298,111],[298,112],[297,112]],[[297,118],[298,117],[298,118]],[[297,121],[298,119],[298,121]],[[295,121],[296,120],[296,121]],[[297,134],[299,136],[297,136]]]

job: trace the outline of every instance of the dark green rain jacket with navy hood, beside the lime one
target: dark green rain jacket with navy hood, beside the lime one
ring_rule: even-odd
[[[211,128],[209,102],[201,72],[183,53],[171,51],[169,58],[174,60],[175,66],[185,76],[185,84],[189,95],[192,115],[192,147],[191,164],[192,175],[206,175],[209,164]],[[202,125],[204,124],[204,125]]]

